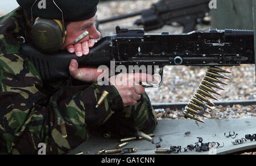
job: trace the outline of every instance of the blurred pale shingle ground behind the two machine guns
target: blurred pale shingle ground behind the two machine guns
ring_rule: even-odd
[[[155,2],[158,2],[158,0],[101,1],[98,6],[97,19],[106,19],[112,16],[147,9]],[[15,0],[1,0],[0,15],[10,12],[15,9],[15,7],[18,7]],[[141,16],[100,24],[98,27],[102,36],[115,34],[115,26],[117,25],[122,28],[140,28],[140,26],[133,24],[134,21],[139,18],[141,18]],[[210,20],[211,16],[208,16],[207,19]],[[210,25],[198,24],[196,29],[207,30],[210,27]],[[164,26],[158,30],[148,31],[147,33],[161,32],[179,34],[183,32],[183,27],[179,26],[179,24],[174,24],[172,26]],[[232,78],[232,80],[226,81],[229,85],[223,86],[226,90],[221,91],[222,96],[217,97],[220,101],[256,99],[255,65],[225,67],[224,69],[230,70],[233,74],[225,74],[225,76]],[[205,70],[205,67],[164,67],[163,85],[157,89],[147,89],[146,92],[148,93],[152,103],[188,102],[203,79]],[[158,118],[183,118],[180,110],[176,109],[157,110],[157,114]],[[213,107],[210,118],[245,118],[255,117],[255,115],[255,105],[234,105],[231,107],[216,106]]]

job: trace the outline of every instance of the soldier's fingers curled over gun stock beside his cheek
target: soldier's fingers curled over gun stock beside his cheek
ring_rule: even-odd
[[[92,48],[95,43],[96,40],[90,39],[75,45],[68,45],[67,50],[69,53],[76,53],[78,57],[81,57],[82,55],[88,55],[89,48]]]

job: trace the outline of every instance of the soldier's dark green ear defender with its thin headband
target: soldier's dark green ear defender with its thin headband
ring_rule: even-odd
[[[32,9],[36,1],[31,7],[31,22],[33,22]],[[55,0],[53,0],[53,3],[56,5]],[[59,8],[59,6],[56,5],[56,7],[61,11],[62,20],[44,19],[38,17],[36,18],[35,23],[32,25],[32,43],[36,48],[44,53],[53,53],[59,51],[65,42],[65,36],[67,35],[67,31],[65,31],[63,11]]]

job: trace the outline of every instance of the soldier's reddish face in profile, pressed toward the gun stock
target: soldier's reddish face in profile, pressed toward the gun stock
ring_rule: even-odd
[[[73,45],[74,40],[76,40],[76,38],[79,37],[84,31],[88,31],[89,35],[82,39],[79,43],[84,43],[90,39],[100,38],[101,34],[94,26],[95,19],[96,16],[93,16],[93,18],[87,20],[82,20],[79,22],[69,22],[66,26],[66,39],[61,49],[65,49],[69,45]]]

